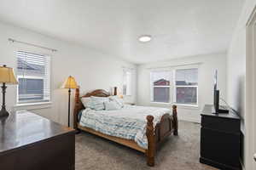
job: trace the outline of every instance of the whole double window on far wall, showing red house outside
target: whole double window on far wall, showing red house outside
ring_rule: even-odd
[[[152,102],[198,105],[198,68],[151,71],[150,87]]]

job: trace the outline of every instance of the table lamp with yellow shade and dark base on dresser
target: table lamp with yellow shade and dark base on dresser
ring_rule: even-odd
[[[9,112],[6,111],[5,106],[5,93],[6,93],[6,84],[18,84],[14,70],[12,68],[7,67],[6,65],[0,66],[0,83],[3,83],[2,93],[3,93],[3,104],[2,109],[0,111],[0,117],[9,116]]]

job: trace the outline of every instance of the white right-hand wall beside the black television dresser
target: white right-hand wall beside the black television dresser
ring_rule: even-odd
[[[246,60],[246,25],[250,15],[253,13],[253,8],[256,5],[256,0],[246,0],[244,8],[241,12],[240,19],[237,23],[236,30],[233,33],[230,48],[227,58],[227,73],[228,73],[228,102],[239,112],[244,120],[245,127],[243,129],[245,139],[243,150],[244,167],[247,170],[253,169],[253,153],[251,145],[252,115],[253,113],[246,110],[246,63],[252,62]]]

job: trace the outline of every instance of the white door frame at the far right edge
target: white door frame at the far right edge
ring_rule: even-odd
[[[246,61],[245,163],[248,169],[256,169],[256,13],[247,23]]]

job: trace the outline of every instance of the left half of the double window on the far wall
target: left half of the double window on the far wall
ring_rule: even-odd
[[[151,101],[170,103],[171,71],[152,71],[151,79]]]

